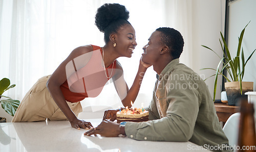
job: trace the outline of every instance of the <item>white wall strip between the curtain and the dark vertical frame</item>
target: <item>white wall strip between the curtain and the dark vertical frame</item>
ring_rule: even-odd
[[[193,63],[191,69],[201,77],[209,77],[215,71],[200,70],[203,68],[216,69],[220,61],[219,57],[201,45],[207,46],[222,57],[222,49],[219,43],[220,32],[224,34],[225,25],[225,0],[221,1],[193,1],[192,6],[192,31],[193,31]],[[205,82],[213,97],[214,79],[211,77]],[[218,77],[216,99],[220,99],[222,77]]]

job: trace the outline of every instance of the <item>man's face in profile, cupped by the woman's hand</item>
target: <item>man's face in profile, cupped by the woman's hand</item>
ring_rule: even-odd
[[[142,61],[155,64],[160,59],[160,51],[163,47],[160,32],[155,31],[148,38],[148,43],[143,47]]]

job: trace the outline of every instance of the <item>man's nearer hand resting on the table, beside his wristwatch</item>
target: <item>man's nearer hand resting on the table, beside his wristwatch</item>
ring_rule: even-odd
[[[119,124],[104,120],[96,128],[92,128],[90,131],[84,133],[85,136],[91,136],[99,134],[104,137],[117,137],[121,134]]]

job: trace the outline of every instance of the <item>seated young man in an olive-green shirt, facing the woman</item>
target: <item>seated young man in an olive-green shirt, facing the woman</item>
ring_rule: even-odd
[[[84,135],[116,137],[122,134],[136,140],[190,141],[205,148],[214,146],[215,151],[227,151],[218,148],[228,146],[228,139],[205,82],[179,63],[183,46],[180,32],[159,28],[143,47],[142,61],[152,64],[157,72],[153,99],[146,108],[152,121],[127,122],[119,127],[117,123],[104,120]],[[103,119],[108,119],[109,115],[114,118],[116,112],[108,111]]]

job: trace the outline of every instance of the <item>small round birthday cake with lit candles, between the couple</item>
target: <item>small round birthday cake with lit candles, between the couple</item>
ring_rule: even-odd
[[[122,121],[141,122],[148,121],[148,111],[141,108],[126,108],[116,113],[117,123]]]

